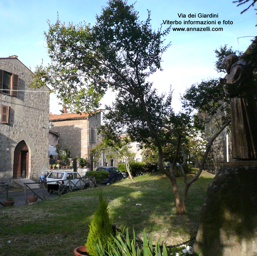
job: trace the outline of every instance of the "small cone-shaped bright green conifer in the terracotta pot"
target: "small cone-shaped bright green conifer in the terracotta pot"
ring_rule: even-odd
[[[90,230],[85,244],[89,255],[97,255],[94,244],[98,244],[99,242],[103,244],[103,246],[106,246],[107,242],[113,244],[113,236],[111,234],[112,223],[107,207],[108,204],[106,199],[103,200],[103,193],[101,191],[99,194],[99,206],[89,225]]]

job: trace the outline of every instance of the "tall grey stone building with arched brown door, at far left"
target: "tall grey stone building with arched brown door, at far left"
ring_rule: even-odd
[[[38,180],[48,168],[48,87],[29,87],[31,71],[16,55],[0,58],[0,181]]]

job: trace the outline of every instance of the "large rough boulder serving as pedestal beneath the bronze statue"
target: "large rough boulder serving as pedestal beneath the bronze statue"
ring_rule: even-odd
[[[257,255],[257,166],[222,167],[210,183],[194,244],[200,256]]]

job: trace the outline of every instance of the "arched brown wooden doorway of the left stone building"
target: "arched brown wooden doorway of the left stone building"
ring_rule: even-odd
[[[29,148],[24,140],[20,141],[14,150],[13,179],[28,178]]]

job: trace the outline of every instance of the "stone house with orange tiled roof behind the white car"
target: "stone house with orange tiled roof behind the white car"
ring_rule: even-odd
[[[89,154],[90,148],[100,141],[96,128],[101,125],[101,110],[92,115],[85,112],[67,114],[64,110],[63,114],[51,114],[50,118],[54,124],[52,131],[60,133],[58,141],[60,148],[69,149],[71,158],[87,159],[89,169],[93,170],[97,164]]]

